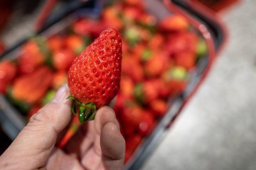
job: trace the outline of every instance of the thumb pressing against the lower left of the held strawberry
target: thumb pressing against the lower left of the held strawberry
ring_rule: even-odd
[[[58,133],[69,124],[71,114],[67,85],[61,87],[52,102],[34,114],[27,126],[0,157],[0,169],[36,169],[45,165]]]

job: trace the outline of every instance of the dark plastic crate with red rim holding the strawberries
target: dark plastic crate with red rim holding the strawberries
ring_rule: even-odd
[[[125,163],[125,170],[139,169],[147,157],[152,153],[155,147],[161,142],[166,133],[166,129],[170,128],[175,118],[179,115],[184,105],[189,102],[189,99],[195,94],[200,87],[204,78],[211,70],[216,55],[220,52],[227,39],[227,31],[225,26],[219,19],[216,19],[214,13],[207,11],[200,5],[181,0],[147,0],[147,8],[150,13],[153,13],[158,20],[162,17],[173,14],[180,14],[186,17],[192,29],[204,38],[207,43],[207,54],[196,63],[196,67],[189,73],[189,84],[182,94],[171,96],[168,99],[168,111],[159,118],[153,131],[146,135],[131,157]],[[91,2],[90,2],[91,3]],[[92,5],[93,4],[93,5]],[[95,1],[90,4],[90,8],[86,3],[74,3],[72,8],[69,8],[64,13],[55,15],[51,20],[47,20],[38,31],[38,35],[50,37],[56,33],[65,30],[67,26],[72,24],[79,17],[90,16],[97,18],[101,12],[101,3]],[[89,10],[88,10],[89,9]],[[15,58],[20,46],[27,41],[21,41],[15,47],[6,51],[0,59],[12,56]],[[25,126],[25,117],[20,114],[20,111],[13,107],[5,96],[0,96],[0,124],[3,131],[10,137],[15,139],[21,129]]]

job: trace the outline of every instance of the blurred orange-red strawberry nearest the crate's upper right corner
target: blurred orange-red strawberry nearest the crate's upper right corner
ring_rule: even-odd
[[[168,15],[159,23],[159,28],[162,31],[186,31],[189,28],[189,22],[182,15]]]

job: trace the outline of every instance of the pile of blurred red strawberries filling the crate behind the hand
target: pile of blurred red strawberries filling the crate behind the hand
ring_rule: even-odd
[[[173,14],[157,20],[141,0],[108,4],[99,20],[81,18],[65,34],[32,37],[15,59],[3,58],[0,93],[29,118],[67,83],[76,56],[112,27],[121,33],[122,41],[121,82],[114,110],[126,139],[128,161],[168,110],[168,99],[182,94],[190,72],[207,53],[204,39],[184,17]]]

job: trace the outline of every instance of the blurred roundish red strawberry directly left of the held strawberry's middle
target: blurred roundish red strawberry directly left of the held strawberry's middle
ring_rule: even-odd
[[[76,55],[69,48],[61,48],[52,54],[52,64],[57,70],[67,71],[76,58]]]

